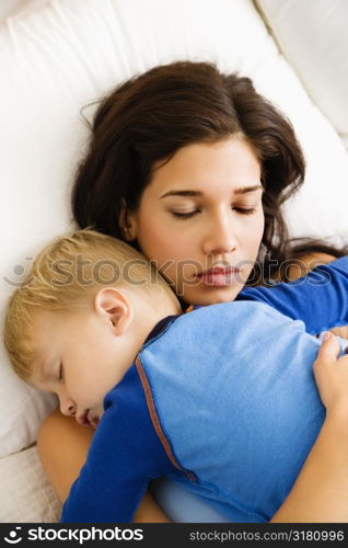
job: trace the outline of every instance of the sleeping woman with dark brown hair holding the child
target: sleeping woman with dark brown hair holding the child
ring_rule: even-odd
[[[267,283],[289,259],[280,205],[302,183],[304,160],[289,122],[250,79],[204,62],[156,67],[102,102],[92,133],[72,196],[79,226],[141,250],[183,306],[233,300],[245,284]],[[339,427],[334,422],[325,423],[272,521],[325,521],[332,512],[313,478],[323,443]],[[40,430],[40,458],[61,500],[91,437],[57,412]],[[336,489],[337,479],[326,488]],[[339,521],[338,512],[332,515]],[[148,494],[137,521],[166,517]]]

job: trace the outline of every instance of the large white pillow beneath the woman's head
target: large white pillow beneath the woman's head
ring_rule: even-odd
[[[30,258],[72,227],[72,173],[88,137],[81,106],[177,59],[251,76],[283,109],[308,158],[305,185],[288,209],[291,231],[347,241],[347,155],[252,0],[56,0],[0,28],[1,313]],[[0,358],[0,447],[9,455],[35,441],[56,400],[24,387]]]

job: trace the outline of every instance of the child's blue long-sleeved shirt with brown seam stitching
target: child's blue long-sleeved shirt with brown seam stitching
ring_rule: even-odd
[[[309,333],[348,323],[347,289],[343,258],[163,320],[106,395],[61,521],[130,522],[163,475],[229,521],[269,521],[325,418]]]

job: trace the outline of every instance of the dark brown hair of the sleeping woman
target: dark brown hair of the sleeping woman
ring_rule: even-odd
[[[92,139],[72,193],[81,228],[124,239],[123,201],[135,210],[154,162],[186,145],[242,135],[262,163],[265,231],[259,260],[288,258],[280,205],[303,182],[304,159],[290,122],[258,94],[250,78],[221,73],[213,64],[177,61],[137,76],[102,100]],[[150,258],[151,259],[151,258]]]

